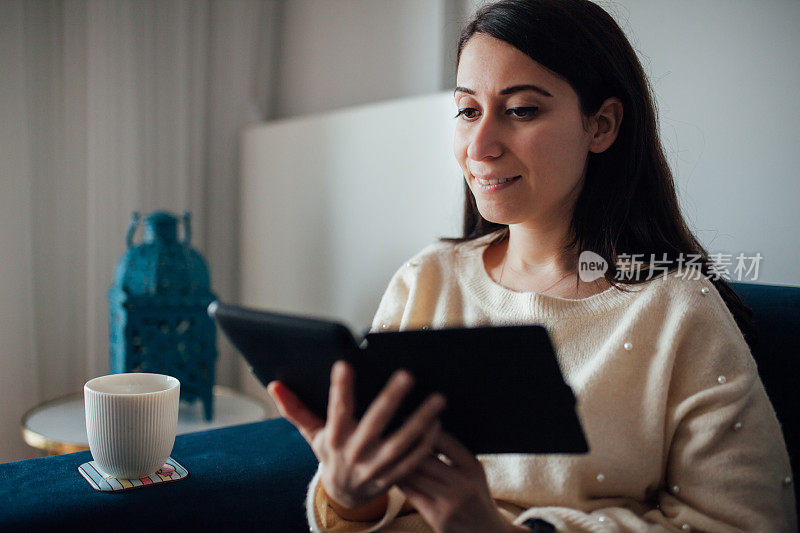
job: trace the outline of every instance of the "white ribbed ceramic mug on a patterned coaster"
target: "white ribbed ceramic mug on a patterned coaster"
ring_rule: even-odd
[[[111,374],[86,382],[86,433],[106,474],[137,479],[157,471],[172,453],[180,381],[162,374]]]

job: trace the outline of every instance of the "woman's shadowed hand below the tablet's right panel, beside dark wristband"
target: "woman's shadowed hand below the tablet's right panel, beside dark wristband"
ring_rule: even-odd
[[[524,532],[495,505],[483,465],[450,435],[441,432],[435,450],[397,486],[422,518],[437,532]]]

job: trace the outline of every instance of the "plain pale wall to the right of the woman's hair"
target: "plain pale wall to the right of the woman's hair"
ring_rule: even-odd
[[[760,283],[800,284],[800,2],[611,6],[652,81],[698,237],[709,251],[760,252]]]

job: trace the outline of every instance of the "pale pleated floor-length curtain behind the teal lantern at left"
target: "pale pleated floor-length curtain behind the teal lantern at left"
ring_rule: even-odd
[[[107,373],[133,211],[191,211],[213,289],[238,296],[238,134],[271,116],[278,9],[0,0],[0,462],[36,455],[28,408]]]

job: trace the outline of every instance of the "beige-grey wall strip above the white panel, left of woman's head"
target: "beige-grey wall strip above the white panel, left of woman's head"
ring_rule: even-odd
[[[288,0],[272,116],[429,94],[455,79],[463,0]]]

